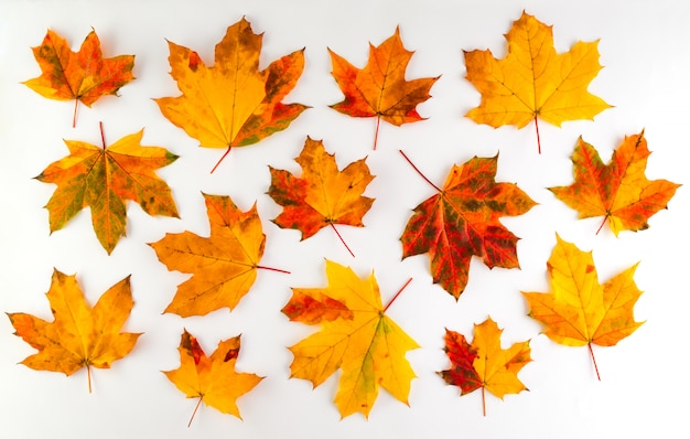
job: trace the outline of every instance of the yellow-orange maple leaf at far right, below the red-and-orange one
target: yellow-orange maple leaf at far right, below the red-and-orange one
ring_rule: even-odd
[[[599,377],[592,344],[613,346],[643,324],[633,315],[642,295],[633,279],[637,264],[601,285],[592,251],[556,237],[547,263],[551,292],[522,295],[529,315],[545,325],[549,339],[567,346],[589,347]]]

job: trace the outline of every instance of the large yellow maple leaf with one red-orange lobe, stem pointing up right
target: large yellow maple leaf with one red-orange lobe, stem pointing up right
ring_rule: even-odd
[[[414,372],[405,357],[419,345],[386,315],[374,274],[360,279],[349,268],[326,260],[326,288],[293,288],[282,312],[295,322],[319,324],[316,332],[290,347],[291,377],[316,387],[342,370],[335,405],[344,418],[368,418],[379,386],[408,404]]]

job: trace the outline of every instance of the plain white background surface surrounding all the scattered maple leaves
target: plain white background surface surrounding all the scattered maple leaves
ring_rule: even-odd
[[[503,57],[505,34],[525,9],[553,24],[556,46],[567,51],[578,40],[601,39],[605,68],[590,90],[615,108],[595,121],[542,124],[543,153],[537,153],[533,125],[522,130],[493,129],[463,117],[479,95],[464,79],[462,50],[490,49]],[[197,141],[170,124],[152,98],[177,96],[169,76],[165,40],[196,50],[207,64],[227,26],[241,17],[265,32],[262,65],[303,46],[306,67],[287,101],[312,106],[289,129],[256,146],[236,149],[220,168],[208,170],[220,150]],[[650,221],[650,228],[618,238],[601,218],[576,221],[548,186],[570,184],[570,154],[579,136],[604,160],[625,135],[645,129],[653,154],[649,179],[687,184],[690,3],[681,1],[20,1],[0,4],[0,311],[30,312],[51,320],[44,292],[53,268],[77,275],[88,300],[131,275],[136,300],[126,323],[143,332],[134,350],[110,370],[94,370],[88,394],[86,371],[71,377],[36,372],[21,360],[34,352],[0,318],[0,431],[7,438],[604,438],[687,437],[687,186]],[[371,150],[374,119],[349,118],[327,106],[342,99],[326,47],[364,66],[368,42],[378,45],[400,25],[407,49],[416,51],[408,78],[442,75],[432,98],[419,106],[428,120],[400,128],[381,124],[379,149]],[[136,54],[136,81],[120,97],[105,97],[79,108],[71,127],[72,103],[45,99],[22,81],[39,76],[31,46],[46,29],[67,39],[74,50],[95,29],[106,56]],[[62,139],[100,143],[98,121],[108,143],[144,128],[143,144],[168,148],[181,158],[159,174],[170,184],[181,220],[150,217],[128,205],[128,236],[111,256],[97,243],[85,210],[64,229],[48,233],[42,208],[54,186],[33,176],[67,154]],[[266,195],[268,164],[299,173],[293,161],[311,136],[336,152],[341,167],[368,156],[376,179],[366,194],[376,199],[366,227],[341,226],[356,254],[352,258],[332,231],[300,242],[300,234],[270,222],[280,207]],[[452,163],[500,151],[497,180],[516,182],[538,206],[504,220],[521,240],[521,270],[489,270],[472,261],[470,282],[460,301],[432,285],[425,255],[401,260],[399,236],[411,214],[433,190],[405,162],[405,150],[423,172],[442,184]],[[262,270],[233,311],[203,318],[162,314],[176,285],[187,275],[169,272],[147,245],[166,232],[208,231],[201,192],[230,195],[247,210],[256,201],[267,246]],[[540,335],[526,315],[520,290],[547,291],[546,260],[556,233],[594,251],[600,279],[640,261],[635,280],[645,293],[635,315],[646,323],[614,347],[594,346],[602,381],[585,347],[560,346]],[[409,278],[413,281],[390,308],[396,320],[422,346],[408,354],[418,378],[406,406],[382,390],[368,421],[360,415],[339,419],[332,404],[337,376],[315,390],[289,379],[287,346],[312,331],[280,312],[290,287],[325,285],[324,258],[353,267],[360,276],[376,270],[384,302]],[[502,401],[488,396],[482,416],[481,393],[460,397],[435,374],[449,366],[442,351],[444,328],[471,339],[474,323],[487,315],[504,328],[504,346],[531,339],[533,362],[519,374],[530,392]],[[244,420],[202,407],[186,422],[196,400],[185,399],[160,372],[179,365],[176,346],[183,328],[208,354],[220,339],[242,333],[239,370],[266,376],[238,399]],[[337,374],[336,374],[337,375]]]

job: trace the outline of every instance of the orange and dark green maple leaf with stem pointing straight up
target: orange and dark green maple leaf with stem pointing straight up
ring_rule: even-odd
[[[57,189],[48,200],[51,233],[58,231],[84,207],[91,210],[91,224],[100,245],[110,254],[126,235],[127,200],[139,203],[149,215],[179,217],[168,184],[154,170],[177,156],[160,147],[143,147],[143,130],[103,148],[65,140],[69,156],[51,163],[36,176]]]

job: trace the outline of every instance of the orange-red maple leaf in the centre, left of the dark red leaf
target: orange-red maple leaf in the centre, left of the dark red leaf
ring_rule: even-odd
[[[273,222],[282,228],[297,228],[302,239],[321,228],[331,226],[341,237],[335,224],[364,227],[362,217],[374,199],[363,196],[374,180],[366,159],[349,163],[338,171],[335,154],[328,154],[321,140],[306,138],[295,161],[302,167],[302,176],[269,167],[271,186],[268,194],[283,211]],[[343,244],[345,240],[341,237]],[[349,247],[347,250],[354,256]]]

